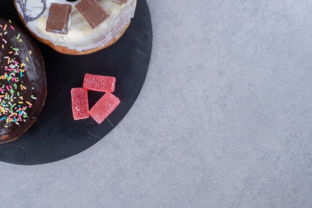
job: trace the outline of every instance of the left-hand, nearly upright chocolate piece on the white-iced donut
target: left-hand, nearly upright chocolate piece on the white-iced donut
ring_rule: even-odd
[[[70,12],[71,5],[69,4],[51,3],[45,30],[47,32],[66,34]]]

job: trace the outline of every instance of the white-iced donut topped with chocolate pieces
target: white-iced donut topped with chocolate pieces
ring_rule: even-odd
[[[71,55],[94,53],[115,43],[128,28],[137,4],[137,0],[90,0],[88,3],[96,1],[108,14],[95,25],[78,9],[79,3],[83,3],[81,1],[85,0],[14,0],[14,4],[24,25],[34,37],[60,53]],[[51,4],[71,7],[67,25],[61,26],[64,26],[62,31],[47,31],[49,18],[52,19],[50,22],[56,18],[55,15],[52,18],[49,12]],[[63,10],[59,13],[64,15]]]

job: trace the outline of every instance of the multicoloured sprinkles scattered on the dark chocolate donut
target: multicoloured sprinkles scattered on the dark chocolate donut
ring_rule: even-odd
[[[11,23],[11,21],[9,20]],[[31,108],[33,103],[29,101],[36,102],[37,99],[34,95],[30,97],[23,97],[22,91],[26,90],[29,86],[26,83],[23,83],[22,78],[26,76],[27,69],[25,68],[27,63],[23,63],[22,60],[17,59],[18,51],[23,45],[20,45],[22,42],[22,35],[20,33],[16,34],[16,45],[8,44],[9,32],[14,32],[12,30],[6,30],[6,27],[10,27],[14,30],[14,27],[10,24],[5,24],[0,28],[3,28],[3,31],[0,32],[0,46],[1,48],[6,48],[8,51],[4,55],[4,59],[7,60],[4,63],[3,68],[1,68],[2,74],[0,74],[0,121],[4,123],[11,123],[19,125],[21,122],[26,122],[28,119],[27,109]],[[14,34],[15,35],[15,34]],[[29,50],[31,54],[31,50]],[[26,57],[26,61],[29,59]],[[20,63],[21,62],[21,63]],[[31,87],[34,89],[33,87]],[[6,128],[9,128],[11,125],[5,125]]]

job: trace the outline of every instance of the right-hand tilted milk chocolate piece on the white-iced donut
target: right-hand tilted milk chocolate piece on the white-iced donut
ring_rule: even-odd
[[[82,0],[76,8],[87,19],[92,28],[99,26],[110,15],[97,0]]]

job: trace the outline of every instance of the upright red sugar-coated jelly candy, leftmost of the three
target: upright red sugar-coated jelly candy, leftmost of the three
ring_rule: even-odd
[[[89,118],[88,90],[71,89],[71,102],[74,120]]]

